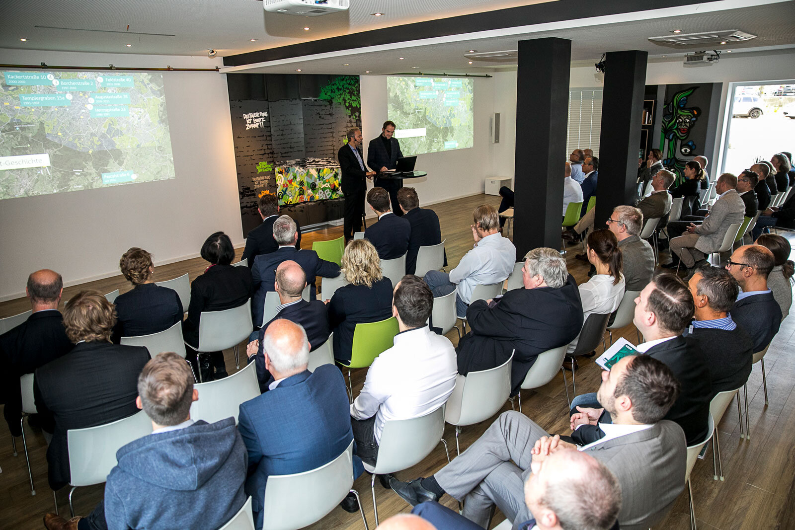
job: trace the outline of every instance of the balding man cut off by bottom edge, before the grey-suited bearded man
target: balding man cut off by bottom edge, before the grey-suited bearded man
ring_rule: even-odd
[[[518,486],[523,480],[525,506],[530,516],[526,522],[514,518],[514,526],[525,530],[619,528],[621,486],[615,474],[588,453],[568,447],[550,451],[550,445],[551,440],[539,444],[538,455],[530,462],[532,473],[527,478],[510,477],[512,486]],[[502,499],[498,497],[498,500]],[[438,502],[423,502],[415,506],[412,513],[429,520],[436,530],[483,530]]]

